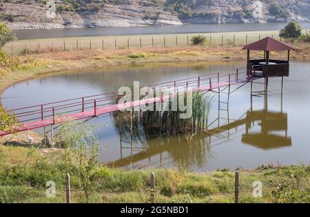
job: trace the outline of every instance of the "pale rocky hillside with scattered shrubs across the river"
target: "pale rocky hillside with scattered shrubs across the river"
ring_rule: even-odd
[[[309,21],[310,0],[0,0],[12,29]],[[257,15],[258,14],[258,15]]]

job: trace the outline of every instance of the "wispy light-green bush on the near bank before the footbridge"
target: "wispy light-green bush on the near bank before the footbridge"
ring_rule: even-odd
[[[99,142],[93,132],[94,126],[89,123],[70,121],[60,125],[57,138],[65,147],[63,161],[67,171],[70,171],[72,165],[78,171],[79,187],[86,203],[99,187],[99,179],[96,176]]]

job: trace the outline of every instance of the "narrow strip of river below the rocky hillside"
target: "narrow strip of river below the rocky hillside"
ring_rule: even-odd
[[[63,37],[96,37],[139,34],[182,34],[207,32],[242,32],[280,30],[287,23],[231,23],[231,24],[187,24],[140,26],[121,28],[70,28],[55,30],[15,30],[19,40],[51,39]],[[310,29],[310,23],[300,23],[303,29]]]

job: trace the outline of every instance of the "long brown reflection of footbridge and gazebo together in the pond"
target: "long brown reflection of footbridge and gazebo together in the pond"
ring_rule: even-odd
[[[223,102],[222,102],[223,103]],[[163,138],[162,140],[157,140],[152,143],[147,142],[147,147],[125,147],[130,149],[131,148],[131,154],[130,156],[127,156],[123,158],[122,149],[124,148],[122,146],[122,139],[121,139],[121,158],[117,161],[111,162],[111,165],[130,165],[132,163],[137,163],[139,161],[143,161],[147,158],[151,158],[152,156],[156,156],[159,154],[160,159],[159,162],[162,164],[163,162],[163,152],[175,152],[175,149],[183,149],[183,154],[185,152],[190,152],[187,149],[194,149],[195,147],[198,147],[197,153],[194,153],[198,156],[198,158],[202,158],[202,154],[207,153],[201,153],[202,148],[208,149],[210,151],[209,147],[213,145],[217,145],[218,143],[222,143],[220,139],[215,140],[214,138],[211,139],[212,136],[218,137],[218,135],[223,134],[224,132],[227,132],[227,136],[225,138],[228,138],[231,136],[230,130],[237,129],[238,127],[244,125],[245,126],[245,133],[242,134],[241,141],[242,143],[246,143],[248,145],[252,145],[254,147],[260,148],[260,149],[274,149],[279,147],[286,147],[291,145],[291,138],[287,136],[287,114],[281,112],[271,112],[267,110],[267,96],[265,97],[265,109],[263,110],[252,110],[252,107],[250,110],[248,110],[244,115],[242,115],[240,118],[236,119],[235,121],[232,121],[229,119],[229,110],[227,110],[227,117],[226,123],[224,125],[219,124],[220,120],[220,110],[222,110],[219,106],[219,113],[218,118],[216,118],[215,121],[213,121],[211,124],[216,123],[218,121],[218,126],[212,127],[211,129],[207,130],[206,132],[202,132],[200,134],[196,134],[192,138],[192,141],[190,142],[190,145],[184,145],[180,141],[178,141],[178,138],[169,138],[169,140],[165,140]],[[256,125],[260,125],[260,131],[259,132],[250,132],[252,125],[254,123],[257,123]],[[210,124],[210,125],[211,125]],[[210,126],[209,125],[209,126]],[[129,128],[128,128],[129,130]],[[237,131],[237,130],[236,130]],[[125,132],[121,132],[124,134]],[[130,132],[127,132],[127,134],[130,134]],[[211,142],[212,141],[212,142]],[[162,144],[161,144],[162,143]],[[135,151],[138,151],[138,153],[133,154],[132,149]],[[176,156],[174,156],[175,158]],[[192,156],[189,156],[193,158]],[[201,159],[200,159],[201,161]]]

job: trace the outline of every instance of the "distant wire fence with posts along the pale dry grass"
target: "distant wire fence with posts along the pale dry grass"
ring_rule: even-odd
[[[198,34],[167,34],[130,37],[81,37],[68,39],[42,39],[30,41],[14,41],[3,47],[10,56],[44,54],[76,50],[126,50],[156,47],[185,47],[192,45],[192,38]],[[279,39],[278,34],[244,34],[236,32],[202,34],[207,39],[206,45],[245,45],[265,37]]]

